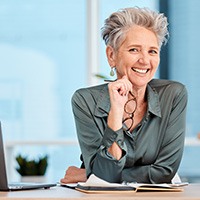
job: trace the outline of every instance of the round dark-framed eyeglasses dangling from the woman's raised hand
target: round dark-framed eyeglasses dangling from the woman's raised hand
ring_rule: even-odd
[[[130,95],[132,96],[131,99],[129,99],[125,105],[124,105],[124,112],[127,113],[129,116],[126,117],[122,123],[127,123],[129,124],[130,123],[130,126],[126,129],[127,131],[129,131],[131,129],[131,127],[133,126],[133,123],[134,123],[134,113],[136,111],[136,108],[137,108],[137,99],[136,97],[132,94],[132,92],[129,92]],[[128,105],[131,105],[131,106],[128,106]],[[130,122],[129,122],[130,121]]]

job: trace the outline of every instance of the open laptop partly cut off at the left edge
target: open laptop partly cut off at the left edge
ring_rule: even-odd
[[[31,189],[48,189],[50,187],[56,186],[56,183],[8,183],[4,146],[3,146],[3,136],[2,128],[0,123],[0,191],[16,191],[16,190],[31,190]]]

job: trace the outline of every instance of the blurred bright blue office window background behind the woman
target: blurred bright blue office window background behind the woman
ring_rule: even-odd
[[[149,7],[169,20],[155,78],[177,80],[189,94],[182,180],[200,182],[199,0],[1,0],[0,121],[9,180],[18,154],[48,155],[46,178],[80,166],[71,97],[102,82],[110,67],[100,37],[104,19],[124,7]]]

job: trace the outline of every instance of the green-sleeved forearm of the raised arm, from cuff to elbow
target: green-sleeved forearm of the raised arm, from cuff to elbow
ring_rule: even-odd
[[[119,160],[108,151],[109,147],[112,146],[114,142],[122,152],[122,156]],[[110,182],[119,182],[121,180],[121,172],[125,165],[125,154],[126,145],[124,143],[122,128],[118,131],[113,131],[107,127],[102,138],[101,146],[96,156],[90,161],[91,173]]]

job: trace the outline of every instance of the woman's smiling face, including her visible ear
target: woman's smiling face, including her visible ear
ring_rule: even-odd
[[[126,75],[136,88],[146,87],[160,62],[156,35],[141,26],[130,28],[117,51],[108,46],[106,52],[110,66],[116,67],[117,78]]]

